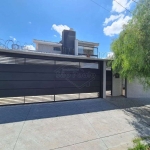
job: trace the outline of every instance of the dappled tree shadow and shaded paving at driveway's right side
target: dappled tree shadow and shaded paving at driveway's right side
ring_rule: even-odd
[[[135,128],[139,136],[150,136],[150,99],[120,97],[107,98],[107,101],[118,109],[123,109],[127,115],[133,118],[127,121]]]

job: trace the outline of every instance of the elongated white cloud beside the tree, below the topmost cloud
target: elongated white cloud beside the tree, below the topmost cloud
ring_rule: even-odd
[[[130,16],[122,16],[115,22],[113,22],[110,26],[104,28],[104,33],[107,36],[114,36],[119,34],[123,30],[123,25],[127,24],[131,19]]]

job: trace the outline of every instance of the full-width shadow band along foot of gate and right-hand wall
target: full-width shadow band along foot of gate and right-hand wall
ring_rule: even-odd
[[[148,104],[150,104],[149,100],[111,98],[2,106],[0,107],[0,124],[124,109],[135,117],[141,117],[142,121],[150,125]]]

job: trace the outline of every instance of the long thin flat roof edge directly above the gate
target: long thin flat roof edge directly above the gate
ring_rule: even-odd
[[[83,57],[83,56],[65,55],[65,54],[56,54],[56,53],[43,53],[43,52],[37,52],[35,50],[14,50],[14,49],[1,49],[0,48],[0,52],[12,53],[12,54],[25,54],[25,55],[32,55],[32,56],[34,55],[34,56],[47,56],[47,57],[94,60],[94,61],[110,61],[110,59],[88,58],[88,57]]]

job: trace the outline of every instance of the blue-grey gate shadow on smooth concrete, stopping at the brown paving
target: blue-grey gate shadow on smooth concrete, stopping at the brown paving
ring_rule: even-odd
[[[103,99],[0,107],[0,124],[117,109]]]

